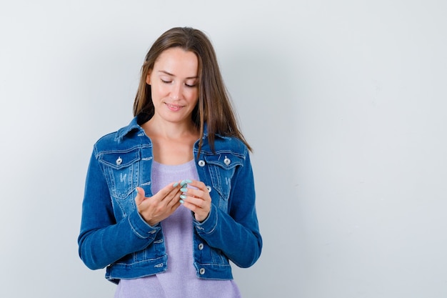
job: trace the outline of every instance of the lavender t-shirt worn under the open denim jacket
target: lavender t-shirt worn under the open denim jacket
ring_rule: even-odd
[[[172,182],[199,180],[194,160],[175,166],[154,161],[151,174],[153,194]],[[181,205],[174,214],[161,222],[161,227],[168,254],[167,271],[139,279],[121,279],[115,298],[241,297],[233,280],[199,279],[196,276],[193,223],[189,209]]]

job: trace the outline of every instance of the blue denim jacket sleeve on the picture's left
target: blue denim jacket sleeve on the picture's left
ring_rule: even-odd
[[[96,149],[91,155],[82,204],[79,257],[90,269],[101,269],[147,247],[161,228],[146,224],[138,211],[117,221]],[[123,241],[126,239],[126,241]]]

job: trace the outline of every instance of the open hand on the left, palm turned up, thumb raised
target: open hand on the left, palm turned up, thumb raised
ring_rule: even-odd
[[[151,227],[154,227],[179,208],[180,189],[181,186],[178,183],[171,183],[160,189],[154,196],[145,197],[144,189],[136,187],[135,203],[139,214]]]

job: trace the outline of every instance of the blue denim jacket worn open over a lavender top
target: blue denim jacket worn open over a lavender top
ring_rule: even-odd
[[[115,283],[166,271],[161,224],[147,224],[134,201],[137,186],[153,195],[152,143],[139,124],[137,116],[99,139],[86,177],[79,256],[90,269],[107,267],[106,278]],[[212,204],[204,222],[193,220],[194,267],[199,278],[232,279],[228,259],[250,267],[261,254],[253,172],[240,140],[217,135],[213,153],[206,136],[199,157],[199,141],[193,150]]]

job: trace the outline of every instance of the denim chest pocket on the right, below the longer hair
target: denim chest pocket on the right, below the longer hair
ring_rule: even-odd
[[[211,184],[219,193],[219,209],[227,212],[228,198],[231,192],[231,179],[238,167],[243,165],[243,158],[233,153],[205,155]]]

